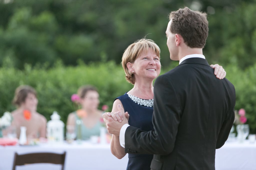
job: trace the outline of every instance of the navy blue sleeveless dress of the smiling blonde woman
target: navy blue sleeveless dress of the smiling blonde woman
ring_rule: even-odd
[[[116,99],[122,102],[124,111],[130,114],[129,125],[145,131],[154,129],[152,124],[153,107],[141,106],[135,103],[126,93]],[[128,158],[126,170],[149,170],[153,155],[129,153]]]

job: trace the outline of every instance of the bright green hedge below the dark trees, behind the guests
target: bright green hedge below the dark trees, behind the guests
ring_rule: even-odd
[[[162,68],[164,73],[175,67],[176,62],[168,68]],[[235,109],[244,108],[250,125],[250,133],[256,133],[256,64],[241,70],[236,64],[224,66],[227,78],[236,88]],[[77,67],[64,67],[61,62],[49,70],[45,68],[31,68],[25,65],[25,70],[17,70],[6,64],[0,68],[0,116],[15,107],[11,104],[16,87],[22,84],[33,86],[38,94],[38,112],[50,120],[53,111],[57,111],[63,122],[76,109],[71,102],[71,95],[77,92],[81,85],[91,84],[98,88],[100,94],[100,108],[103,104],[112,109],[115,97],[124,94],[132,88],[124,77],[121,65],[114,62],[84,64]]]

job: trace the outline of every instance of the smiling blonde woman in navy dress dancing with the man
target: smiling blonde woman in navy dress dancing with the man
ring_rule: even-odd
[[[122,66],[125,71],[126,80],[134,87],[122,96],[115,99],[111,116],[115,121],[122,121],[118,112],[120,104],[129,116],[129,125],[142,130],[153,130],[153,80],[161,71],[160,49],[153,40],[141,39],[129,45],[122,57]],[[215,68],[217,78],[223,79],[223,69],[218,64],[211,65]],[[129,115],[128,115],[128,113]],[[123,158],[126,153],[120,145],[119,136],[112,135],[111,152],[118,159]],[[150,169],[153,159],[151,154],[130,154],[127,170]]]

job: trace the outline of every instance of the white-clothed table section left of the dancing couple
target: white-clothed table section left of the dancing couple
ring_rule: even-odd
[[[0,146],[0,170],[11,170],[13,166],[14,153],[25,154],[32,152],[54,152],[66,151],[65,170],[120,170],[126,169],[128,155],[119,160],[111,154],[110,144],[94,144],[83,141],[78,144],[68,143],[42,143],[34,146]],[[17,166],[16,170],[60,170],[61,166],[56,164],[29,164]]]

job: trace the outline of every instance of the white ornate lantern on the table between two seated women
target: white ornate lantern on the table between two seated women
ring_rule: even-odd
[[[64,139],[64,123],[56,111],[53,112],[51,120],[47,123],[47,139],[49,142],[63,142]]]

